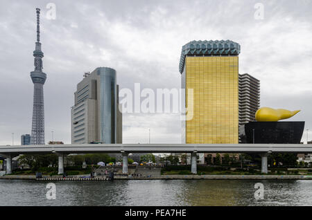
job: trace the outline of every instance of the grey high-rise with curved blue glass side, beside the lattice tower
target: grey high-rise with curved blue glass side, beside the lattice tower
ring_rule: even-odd
[[[113,68],[98,67],[92,73],[85,73],[77,85],[75,105],[71,108],[71,143],[122,141],[117,88]]]

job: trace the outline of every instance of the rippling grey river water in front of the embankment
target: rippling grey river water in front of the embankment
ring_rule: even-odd
[[[51,181],[56,199],[46,199],[46,181],[0,180],[0,205],[312,205],[312,181],[131,180]],[[263,183],[263,199],[255,199]]]

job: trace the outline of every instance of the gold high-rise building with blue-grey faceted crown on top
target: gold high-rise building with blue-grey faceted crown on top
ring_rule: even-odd
[[[182,122],[182,143],[239,143],[240,51],[229,40],[193,41],[182,47],[182,107],[190,111],[193,104],[193,117]]]

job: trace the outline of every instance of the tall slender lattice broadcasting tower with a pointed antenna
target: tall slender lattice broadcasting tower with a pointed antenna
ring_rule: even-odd
[[[46,73],[42,72],[42,57],[44,53],[41,51],[40,43],[40,8],[36,8],[37,12],[37,42],[35,42],[35,71],[31,72],[31,80],[33,80],[33,124],[31,127],[31,145],[44,145],[44,93],[43,85],[46,82]]]

